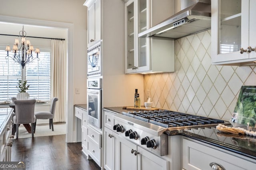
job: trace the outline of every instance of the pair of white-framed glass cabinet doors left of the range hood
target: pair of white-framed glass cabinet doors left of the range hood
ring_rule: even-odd
[[[149,39],[138,33],[149,28],[149,0],[128,0],[125,4],[126,73],[149,70]]]

